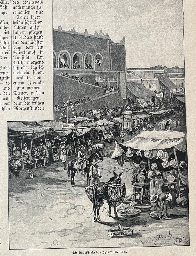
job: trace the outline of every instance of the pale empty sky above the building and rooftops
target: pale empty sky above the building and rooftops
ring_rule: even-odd
[[[182,0],[53,0],[53,27],[125,36],[127,68],[184,67]]]

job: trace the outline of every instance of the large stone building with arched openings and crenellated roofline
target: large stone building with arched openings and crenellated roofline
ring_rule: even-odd
[[[64,80],[59,76],[61,72],[63,72],[63,74],[67,73],[83,77],[83,81],[86,83],[84,86],[92,85],[89,87],[91,99],[92,97],[96,99],[104,95],[103,89],[101,90],[100,88],[100,90],[98,90],[96,88],[95,90],[94,85],[97,82],[104,90],[111,86],[119,92],[118,95],[115,96],[118,105],[126,103],[126,51],[124,37],[120,43],[114,43],[108,33],[104,35],[102,31],[100,31],[99,34],[95,31],[94,35],[90,35],[87,30],[82,34],[77,33],[75,28],[72,31],[61,30],[61,27],[60,29],[58,28],[58,30],[54,29],[53,66],[55,104],[61,104],[66,101],[69,96],[77,98],[81,94],[77,91],[71,92],[72,88],[75,87],[73,87],[73,84],[71,86],[71,83],[69,83],[66,78],[64,78],[66,79]],[[82,90],[81,86],[80,88]],[[65,93],[62,97],[59,97],[62,90],[64,90]],[[66,91],[68,93],[66,93]],[[93,91],[95,91],[95,93],[93,93]],[[119,95],[121,97],[119,97]],[[115,100],[115,97],[112,97],[112,101]],[[104,96],[104,98],[104,105],[110,105],[110,97],[108,97],[109,102],[107,101],[107,97]],[[93,104],[94,103],[95,102],[93,102]]]

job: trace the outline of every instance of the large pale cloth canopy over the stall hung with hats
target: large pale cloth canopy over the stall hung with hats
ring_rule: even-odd
[[[153,130],[152,132],[144,130],[133,139],[120,144],[136,150],[163,150],[166,148],[179,147],[185,152],[186,140],[184,139],[184,136],[185,132],[176,132],[172,130]]]

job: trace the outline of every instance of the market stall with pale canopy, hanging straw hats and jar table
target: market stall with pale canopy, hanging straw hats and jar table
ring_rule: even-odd
[[[127,153],[128,149],[131,154]],[[121,166],[123,166],[124,161],[130,162],[132,170],[136,170],[141,161],[147,163],[146,169],[148,170],[150,170],[152,163],[156,163],[164,178],[163,186],[167,185],[170,188],[171,183],[168,182],[173,182],[173,187],[178,191],[180,186],[188,185],[187,170],[185,170],[187,155],[184,132],[172,130],[153,130],[150,132],[144,130],[127,142],[116,143],[112,158]],[[172,176],[172,179],[168,176]],[[141,184],[150,186],[150,182],[145,184],[144,180],[137,180],[133,185],[135,187]]]

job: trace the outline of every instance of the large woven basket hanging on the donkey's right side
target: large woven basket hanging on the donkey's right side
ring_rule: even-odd
[[[125,184],[108,184],[108,204],[116,207],[121,204],[126,194]]]

